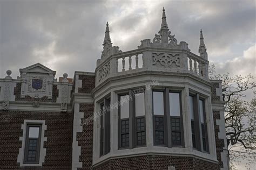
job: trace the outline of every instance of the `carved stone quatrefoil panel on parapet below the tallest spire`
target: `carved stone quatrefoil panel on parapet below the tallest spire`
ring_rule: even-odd
[[[180,57],[179,54],[167,54],[167,53],[153,53],[153,65],[156,65],[157,62],[161,66],[171,67],[173,64],[176,67],[180,67]]]

